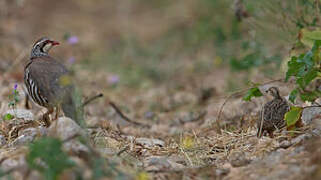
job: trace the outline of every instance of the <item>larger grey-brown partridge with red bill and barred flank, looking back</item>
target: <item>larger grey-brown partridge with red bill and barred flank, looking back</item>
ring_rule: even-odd
[[[28,63],[24,68],[24,82],[32,100],[48,112],[43,115],[46,126],[50,125],[49,114],[56,109],[56,119],[60,108],[65,116],[76,118],[73,101],[74,86],[67,68],[51,57],[48,52],[59,45],[47,37],[40,38],[33,45]]]

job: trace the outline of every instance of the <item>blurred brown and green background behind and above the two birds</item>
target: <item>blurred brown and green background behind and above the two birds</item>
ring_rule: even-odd
[[[233,90],[283,77],[299,30],[318,25],[318,2],[2,0],[0,72],[48,36],[62,42],[54,57],[93,72],[77,76],[101,87],[201,82]]]

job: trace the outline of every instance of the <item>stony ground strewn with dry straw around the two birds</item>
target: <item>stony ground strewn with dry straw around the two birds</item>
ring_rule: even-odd
[[[0,80],[2,87],[14,84]],[[22,86],[18,84],[21,101]],[[26,156],[31,142],[48,136],[62,140],[63,151],[76,162],[85,179],[94,173],[88,164],[93,152],[114,163],[125,179],[320,178],[320,108],[305,109],[301,129],[292,133],[284,130],[273,139],[258,139],[255,122],[266,98],[252,102],[231,98],[223,108],[218,133],[218,109],[226,98],[211,97],[200,103],[201,94],[186,89],[168,95],[160,87],[136,94],[127,100],[128,105],[119,102],[124,114],[138,123],[122,118],[104,97],[86,107],[85,127],[60,117],[49,128],[41,121],[45,109],[33,105],[27,110],[23,102],[9,108],[11,92],[12,88],[1,89],[0,114],[14,117],[0,121],[0,169],[14,179],[42,179],[30,168]],[[146,104],[152,103],[159,107],[149,111]],[[86,138],[85,142],[79,137]],[[59,177],[75,179],[76,173],[65,170]]]

